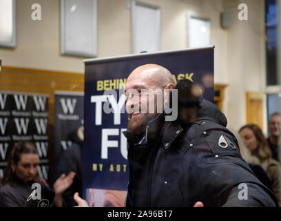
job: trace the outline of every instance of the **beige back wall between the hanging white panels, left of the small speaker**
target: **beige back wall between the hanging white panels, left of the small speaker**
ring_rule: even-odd
[[[211,39],[216,57],[224,58],[227,32],[220,28],[222,1],[144,0],[161,8],[161,50],[187,47],[186,13],[211,19]],[[42,21],[30,17],[32,3],[42,8]],[[131,53],[131,13],[127,0],[98,1],[98,57]],[[203,7],[202,7],[203,6]],[[17,1],[17,48],[0,48],[3,65],[84,72],[83,59],[60,54],[60,11],[58,0]],[[27,56],[28,55],[28,56]],[[226,63],[215,61],[216,81],[227,82]],[[219,77],[220,76],[220,77]]]

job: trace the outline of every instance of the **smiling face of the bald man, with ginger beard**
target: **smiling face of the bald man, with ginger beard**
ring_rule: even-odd
[[[154,94],[155,91],[162,92],[163,90],[161,89],[163,88],[157,88],[154,82],[149,77],[149,73],[146,76],[142,73],[133,73],[127,79],[125,85],[125,95],[127,97],[126,110],[129,115],[128,129],[132,133],[143,133],[147,123],[158,115],[157,105],[162,105],[163,107],[163,103],[160,102],[161,99],[157,99],[157,96]],[[149,99],[152,96],[154,99]],[[149,104],[150,110],[153,111],[149,111]]]

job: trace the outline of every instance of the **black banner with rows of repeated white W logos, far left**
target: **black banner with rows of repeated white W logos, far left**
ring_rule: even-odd
[[[48,181],[48,95],[0,92],[0,178],[14,143],[33,142],[39,175]]]

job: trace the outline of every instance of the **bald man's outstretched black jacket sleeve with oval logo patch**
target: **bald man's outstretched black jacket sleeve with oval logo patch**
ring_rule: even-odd
[[[222,135],[225,141],[232,144],[222,148],[219,140]],[[206,144],[197,148],[200,164],[202,189],[207,191],[209,206],[278,206],[273,192],[264,186],[251,171],[239,151],[233,136],[223,131],[209,132],[205,137]],[[244,197],[246,194],[246,198]]]

